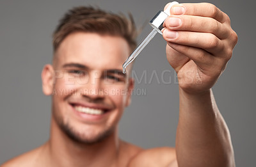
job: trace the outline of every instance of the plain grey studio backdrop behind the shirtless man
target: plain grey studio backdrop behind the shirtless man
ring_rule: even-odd
[[[204,2],[204,1],[180,1]],[[206,1],[205,1],[206,2]],[[226,12],[239,36],[234,56],[214,86],[236,154],[237,166],[254,166],[255,135],[255,2],[212,0]],[[51,63],[51,34],[60,17],[73,6],[92,4],[113,12],[131,12],[136,23],[148,22],[168,1],[0,1],[0,164],[42,145],[49,138],[51,98],[41,89],[40,72]],[[140,41],[150,30],[145,26]],[[165,42],[157,35],[138,56],[134,70],[147,82],[137,83],[146,95],[134,95],[120,122],[120,137],[143,148],[175,146],[179,116],[178,85],[149,83],[153,70],[171,69]],[[166,81],[165,80],[165,81]]]

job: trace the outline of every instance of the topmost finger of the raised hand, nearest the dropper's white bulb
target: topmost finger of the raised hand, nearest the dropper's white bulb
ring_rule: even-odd
[[[211,3],[184,3],[175,4],[170,10],[171,15],[195,15],[202,17],[211,17],[223,23],[230,21],[227,14],[221,12],[214,4]]]

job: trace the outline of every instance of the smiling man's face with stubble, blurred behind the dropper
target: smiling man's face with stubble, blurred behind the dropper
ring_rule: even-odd
[[[56,51],[52,112],[56,124],[82,143],[95,143],[113,131],[133,88],[122,74],[129,45],[118,36],[77,32]]]

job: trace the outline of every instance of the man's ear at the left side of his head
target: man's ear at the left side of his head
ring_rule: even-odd
[[[52,65],[45,65],[42,74],[42,90],[45,95],[52,95],[54,84],[54,69]]]

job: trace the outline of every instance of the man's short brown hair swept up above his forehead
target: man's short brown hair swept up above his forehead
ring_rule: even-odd
[[[131,51],[136,47],[138,35],[131,14],[128,19],[122,13],[117,15],[92,6],[79,6],[69,10],[54,31],[52,35],[54,52],[65,37],[76,31],[121,36],[128,42]]]

